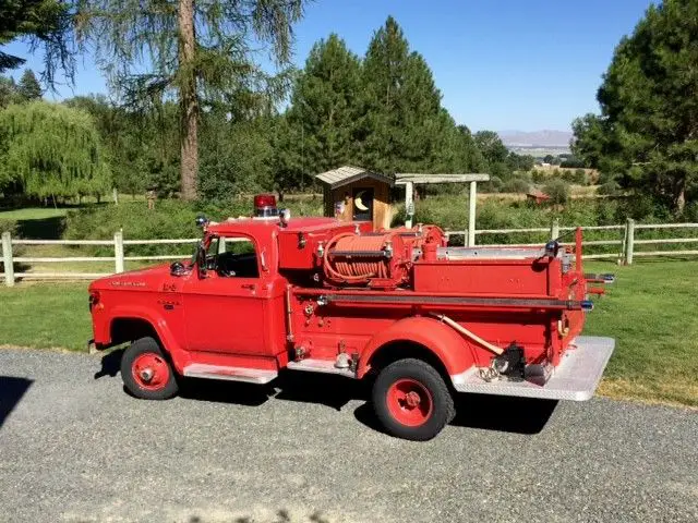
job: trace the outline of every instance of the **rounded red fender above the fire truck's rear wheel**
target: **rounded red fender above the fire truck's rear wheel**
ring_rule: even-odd
[[[452,376],[474,364],[470,346],[458,332],[436,319],[413,316],[396,321],[366,343],[359,360],[357,378],[362,378],[371,368],[371,358],[376,352],[395,341],[410,341],[425,346],[438,357]]]

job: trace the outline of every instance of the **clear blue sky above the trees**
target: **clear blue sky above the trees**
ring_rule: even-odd
[[[432,68],[443,104],[472,130],[568,130],[598,111],[595,92],[613,49],[650,0],[318,0],[296,26],[294,62],[334,32],[362,56],[388,15]],[[22,42],[5,51],[28,57]],[[28,65],[41,69],[40,57]],[[15,72],[14,76],[19,76]],[[92,58],[58,98],[106,92]]]

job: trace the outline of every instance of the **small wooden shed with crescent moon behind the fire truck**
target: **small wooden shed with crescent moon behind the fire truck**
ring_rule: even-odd
[[[344,221],[372,221],[373,228],[390,227],[392,177],[360,167],[340,167],[316,174],[323,183],[325,216]]]

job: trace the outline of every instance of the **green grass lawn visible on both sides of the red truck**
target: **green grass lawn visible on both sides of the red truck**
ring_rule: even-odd
[[[615,398],[698,406],[698,262],[642,260],[615,272],[595,299],[586,335],[616,339],[600,392]],[[0,344],[84,350],[92,337],[86,283],[0,287]]]

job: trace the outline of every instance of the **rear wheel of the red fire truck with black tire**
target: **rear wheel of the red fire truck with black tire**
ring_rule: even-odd
[[[417,406],[396,401],[401,387],[411,387]],[[414,398],[416,398],[414,397]],[[425,441],[436,436],[456,415],[454,399],[438,372],[421,360],[399,360],[386,366],[373,384],[373,409],[385,430],[395,437]],[[426,409],[426,400],[431,402]],[[399,406],[398,406],[399,405]],[[416,415],[411,411],[418,409]],[[424,412],[424,411],[429,412]]]

